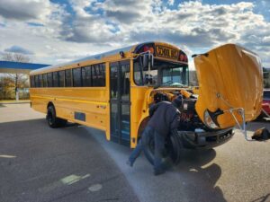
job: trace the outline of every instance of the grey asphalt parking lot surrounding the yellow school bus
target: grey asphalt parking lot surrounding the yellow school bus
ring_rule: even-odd
[[[206,152],[184,151],[179,165],[154,176],[142,155],[89,127],[51,129],[29,104],[0,104],[0,202],[270,201],[270,141],[236,133]],[[249,135],[269,122],[248,124]]]

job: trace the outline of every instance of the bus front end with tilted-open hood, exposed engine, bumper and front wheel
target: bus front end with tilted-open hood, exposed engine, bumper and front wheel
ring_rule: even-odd
[[[259,57],[235,44],[225,44],[195,55],[199,88],[162,86],[150,92],[151,101],[173,101],[183,96],[177,134],[167,139],[173,162],[180,160],[181,148],[208,149],[222,145],[238,126],[245,138],[246,123],[261,110],[263,76]],[[159,96],[159,97],[158,97]]]

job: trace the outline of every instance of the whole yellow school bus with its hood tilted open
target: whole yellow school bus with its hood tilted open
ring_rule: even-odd
[[[154,95],[163,92],[172,101],[182,94],[184,145],[220,145],[233,136],[233,127],[260,112],[260,61],[234,44],[193,57],[200,85],[196,94],[188,87],[184,51],[146,42],[32,71],[31,107],[47,114],[50,127],[68,120],[101,129],[107,140],[134,148]]]

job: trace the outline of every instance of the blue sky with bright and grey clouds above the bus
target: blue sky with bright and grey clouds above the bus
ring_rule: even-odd
[[[0,55],[59,64],[146,41],[191,55],[225,43],[270,67],[270,0],[0,0]]]

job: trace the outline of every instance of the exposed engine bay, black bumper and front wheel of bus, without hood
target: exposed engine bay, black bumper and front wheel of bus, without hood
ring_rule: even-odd
[[[183,103],[178,109],[180,121],[177,134],[170,134],[166,140],[166,154],[172,161],[180,162],[182,148],[185,149],[211,149],[229,141],[234,135],[233,127],[211,129],[199,118],[195,104],[197,96],[186,89],[156,89],[151,92],[152,103],[159,101],[173,101],[178,95],[183,96]],[[188,96],[188,97],[187,97]]]

